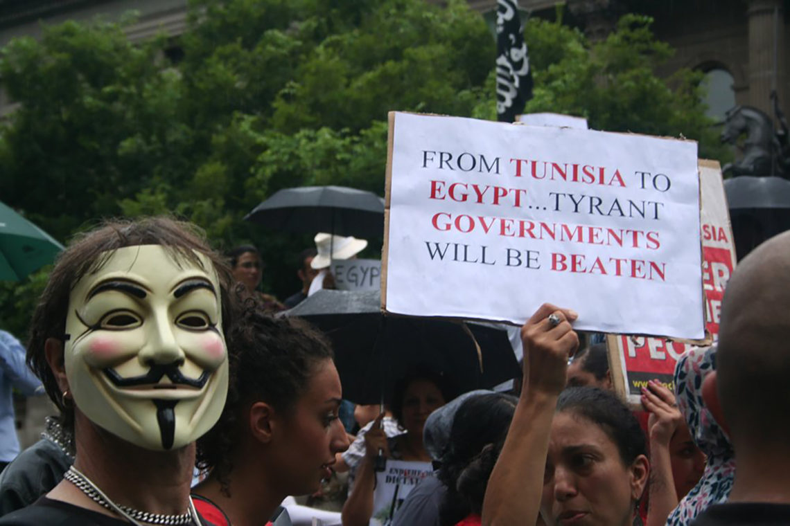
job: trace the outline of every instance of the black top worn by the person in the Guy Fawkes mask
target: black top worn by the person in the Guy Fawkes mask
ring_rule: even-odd
[[[0,526],[129,526],[118,519],[69,504],[42,497],[24,509],[17,509],[0,518]],[[211,526],[201,518],[201,526]]]

